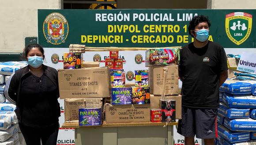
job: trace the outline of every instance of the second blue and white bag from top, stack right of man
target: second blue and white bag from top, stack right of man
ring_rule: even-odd
[[[229,108],[256,109],[256,96],[223,94],[223,101]]]

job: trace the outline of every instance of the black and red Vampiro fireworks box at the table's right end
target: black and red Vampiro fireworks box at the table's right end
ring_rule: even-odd
[[[160,99],[162,122],[175,122],[176,101],[172,99]]]

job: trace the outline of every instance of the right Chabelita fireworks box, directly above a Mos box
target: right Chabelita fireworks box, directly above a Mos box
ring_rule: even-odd
[[[148,87],[148,70],[135,71],[135,87]]]

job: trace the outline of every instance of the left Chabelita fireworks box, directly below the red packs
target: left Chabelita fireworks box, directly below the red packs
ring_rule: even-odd
[[[111,87],[125,87],[125,71],[113,70],[111,75]]]

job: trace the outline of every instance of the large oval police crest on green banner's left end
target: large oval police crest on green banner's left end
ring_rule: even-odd
[[[45,18],[43,32],[48,43],[64,43],[68,36],[68,21],[60,13],[51,13]]]

